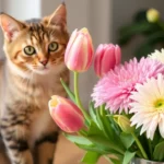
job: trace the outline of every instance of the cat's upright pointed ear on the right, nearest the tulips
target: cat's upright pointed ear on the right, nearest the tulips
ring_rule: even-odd
[[[66,4],[60,4],[56,11],[49,16],[48,25],[57,25],[66,28],[67,25],[67,10]]]

